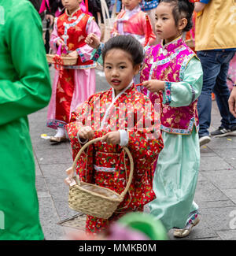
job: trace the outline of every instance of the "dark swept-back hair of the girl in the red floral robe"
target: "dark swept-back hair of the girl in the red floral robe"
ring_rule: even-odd
[[[120,49],[126,51],[128,54],[131,55],[131,61],[133,65],[140,65],[142,64],[144,58],[144,52],[142,48],[142,44],[138,42],[131,35],[117,35],[109,39],[106,43],[104,48],[102,49],[102,59],[103,63],[105,61],[105,55],[109,50],[112,49]]]

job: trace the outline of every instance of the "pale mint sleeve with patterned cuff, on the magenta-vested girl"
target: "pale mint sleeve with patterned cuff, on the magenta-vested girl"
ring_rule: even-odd
[[[189,106],[201,95],[203,72],[201,62],[191,58],[180,82],[165,82],[163,103],[173,107]]]

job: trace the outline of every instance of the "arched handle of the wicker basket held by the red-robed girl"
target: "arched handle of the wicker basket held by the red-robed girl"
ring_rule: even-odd
[[[92,139],[89,142],[87,142],[86,144],[84,144],[83,147],[81,147],[81,149],[79,150],[78,154],[76,155],[76,158],[75,158],[75,160],[73,162],[73,165],[72,165],[73,173],[76,173],[76,163],[77,163],[80,155],[82,154],[83,150],[85,150],[91,144],[96,143],[97,141],[100,141],[101,139],[103,139],[103,137]],[[120,194],[120,196],[122,198],[124,198],[124,195],[127,193],[128,189],[131,185],[131,181],[132,181],[132,177],[133,177],[133,173],[134,173],[134,161],[133,161],[133,158],[132,158],[132,155],[131,155],[131,151],[127,147],[123,147],[123,149],[126,151],[128,157],[130,159],[131,171],[130,171],[130,175],[129,175],[129,179],[127,181],[126,187],[125,187],[124,191]],[[78,174],[76,174],[75,179],[76,179],[76,183],[80,186],[80,180],[79,180],[79,175]]]

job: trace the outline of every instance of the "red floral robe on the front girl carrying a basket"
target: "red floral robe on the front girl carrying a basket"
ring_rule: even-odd
[[[131,150],[135,163],[130,189],[125,195],[124,201],[118,206],[117,212],[109,220],[88,216],[87,232],[101,232],[102,228],[107,227],[111,221],[129,211],[142,210],[147,202],[155,198],[152,189],[153,162],[163,147],[159,115],[154,113],[149,98],[139,93],[134,85],[131,85],[120,97],[116,98],[115,102],[112,103],[112,99],[112,89],[92,95],[87,102],[76,109],[75,113],[72,113],[71,123],[66,126],[72,144],[73,158],[81,148],[77,132],[84,125],[90,125],[93,128],[95,138],[101,137],[107,132],[125,128],[129,135],[127,147]],[[109,106],[109,113],[106,113]],[[126,113],[126,115],[120,116],[120,113]],[[131,125],[128,124],[128,121],[134,113],[134,125],[129,128]],[[146,119],[149,119],[145,124],[143,122],[144,115],[146,115]],[[105,118],[105,125],[101,129],[103,118]],[[158,119],[159,124],[155,118]],[[147,126],[147,124],[150,125]],[[153,139],[150,139],[149,135],[154,135]],[[87,161],[85,160],[86,156]],[[97,170],[94,169],[94,165]],[[112,172],[109,172],[111,170]],[[87,153],[83,152],[77,163],[76,172],[79,173],[82,180],[121,193],[127,184],[130,162],[122,147],[99,141],[88,147]]]

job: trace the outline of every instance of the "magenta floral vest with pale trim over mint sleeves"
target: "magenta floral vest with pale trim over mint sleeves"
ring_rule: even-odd
[[[164,46],[148,46],[146,50],[146,63],[141,72],[141,81],[162,80],[165,83],[166,102],[163,101],[162,92],[151,93],[142,88],[142,92],[149,96],[153,105],[161,106],[161,130],[175,134],[190,134],[194,124],[198,131],[197,99],[192,88],[193,101],[189,106],[171,107],[171,82],[183,80],[186,65],[196,56],[183,42],[182,38]]]

